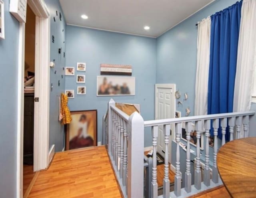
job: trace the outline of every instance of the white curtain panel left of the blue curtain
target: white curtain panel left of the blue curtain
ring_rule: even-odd
[[[211,18],[198,23],[195,115],[207,115]]]

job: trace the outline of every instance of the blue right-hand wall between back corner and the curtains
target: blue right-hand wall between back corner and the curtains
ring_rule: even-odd
[[[176,105],[182,117],[186,108],[190,107],[190,115],[194,115],[194,98],[196,82],[196,53],[198,21],[215,12],[234,4],[237,0],[216,0],[206,8],[200,10],[184,22],[172,28],[157,38],[157,69],[156,83],[176,83],[176,89],[182,93],[183,105]],[[188,93],[188,100],[183,101],[184,93]]]

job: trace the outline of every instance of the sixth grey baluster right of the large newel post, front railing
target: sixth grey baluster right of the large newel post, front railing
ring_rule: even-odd
[[[210,158],[209,158],[209,137],[210,137],[210,128],[211,121],[204,121],[204,129],[205,129],[205,167],[204,167],[204,185],[210,186]]]

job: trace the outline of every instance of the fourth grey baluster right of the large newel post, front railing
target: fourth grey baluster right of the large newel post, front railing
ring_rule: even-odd
[[[186,123],[186,139],[187,139],[187,158],[186,158],[186,173],[185,173],[185,190],[186,192],[191,192],[191,172],[190,172],[190,132],[191,132],[191,122]]]

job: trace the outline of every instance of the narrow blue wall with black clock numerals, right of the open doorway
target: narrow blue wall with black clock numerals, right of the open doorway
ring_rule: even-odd
[[[50,91],[49,148],[52,147],[52,145],[55,145],[55,151],[61,151],[64,147],[64,126],[61,125],[58,121],[58,97],[65,90],[65,72],[63,70],[63,67],[65,67],[66,64],[66,58],[64,58],[64,52],[66,53],[66,21],[62,9],[60,7],[59,0],[45,0],[45,2],[51,15],[50,61],[54,61],[55,59],[55,67],[50,69],[50,85],[52,83],[53,89],[52,91]],[[56,15],[56,11],[58,11],[58,16]],[[60,12],[62,14],[61,21]],[[54,36],[54,43],[52,42],[52,36]],[[59,48],[62,48],[61,54],[58,53]],[[60,86],[58,86],[58,81],[60,81]]]

